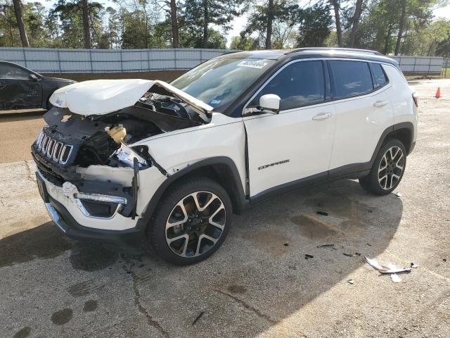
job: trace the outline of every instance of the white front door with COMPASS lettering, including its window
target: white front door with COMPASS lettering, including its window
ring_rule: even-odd
[[[281,98],[278,114],[243,117],[251,197],[302,179],[326,179],[334,132],[334,107],[325,102],[326,92],[323,61],[293,61],[246,106],[258,106],[265,94]]]

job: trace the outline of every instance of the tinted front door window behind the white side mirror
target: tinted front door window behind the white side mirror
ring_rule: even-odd
[[[280,110],[317,104],[325,100],[325,80],[322,61],[300,61],[281,70],[252,100],[258,106],[265,94],[280,96]]]

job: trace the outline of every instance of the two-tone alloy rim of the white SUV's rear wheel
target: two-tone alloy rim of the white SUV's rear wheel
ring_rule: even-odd
[[[404,158],[399,146],[387,149],[378,166],[378,183],[382,189],[390,190],[397,185],[404,170]]]

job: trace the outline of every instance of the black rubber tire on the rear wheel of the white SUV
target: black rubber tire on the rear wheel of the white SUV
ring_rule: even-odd
[[[392,152],[390,149],[392,149]],[[397,150],[401,151],[401,153],[396,153],[395,151]],[[394,158],[390,158],[391,154],[395,155]],[[400,166],[402,167],[401,170],[399,169]],[[383,167],[385,169],[379,173],[378,170]],[[360,177],[359,184],[366,191],[375,195],[383,196],[390,194],[401,182],[405,168],[406,149],[404,144],[398,139],[388,139],[383,143],[380,151],[378,151],[370,173],[365,177]]]

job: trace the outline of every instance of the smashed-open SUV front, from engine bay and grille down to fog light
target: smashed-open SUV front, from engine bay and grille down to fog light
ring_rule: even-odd
[[[154,166],[162,175],[165,170],[147,146],[130,145],[207,123],[193,106],[167,94],[161,89],[146,92],[134,105],[110,113],[82,115],[65,107],[51,108],[44,114],[47,125],[32,145],[39,175],[62,187],[84,215],[109,218],[120,213],[134,219],[139,170]],[[99,177],[98,168],[110,168],[120,178],[113,179],[113,173]]]

